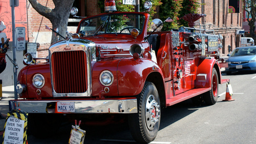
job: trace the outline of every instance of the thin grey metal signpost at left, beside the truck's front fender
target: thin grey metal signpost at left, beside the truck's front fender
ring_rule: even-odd
[[[10,0],[10,6],[12,7],[12,52],[13,52],[13,81],[14,81],[14,99],[17,100],[17,69],[18,66],[16,64],[16,30],[15,30],[15,13],[14,13],[14,7],[19,6],[18,0]]]

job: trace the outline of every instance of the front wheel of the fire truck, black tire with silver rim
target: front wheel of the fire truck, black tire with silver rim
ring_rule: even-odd
[[[149,143],[155,140],[160,125],[160,99],[155,85],[146,82],[138,99],[137,114],[129,115],[129,127],[137,142]]]

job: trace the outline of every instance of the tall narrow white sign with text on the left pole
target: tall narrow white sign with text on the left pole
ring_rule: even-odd
[[[25,28],[24,27],[17,27],[16,28],[16,44],[17,50],[26,50],[25,43]]]

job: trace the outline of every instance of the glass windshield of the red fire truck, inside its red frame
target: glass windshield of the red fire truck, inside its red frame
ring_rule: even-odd
[[[83,20],[79,28],[80,37],[105,33],[130,34],[132,28],[141,33],[145,16],[142,14],[109,14]]]

